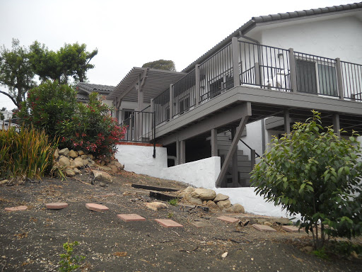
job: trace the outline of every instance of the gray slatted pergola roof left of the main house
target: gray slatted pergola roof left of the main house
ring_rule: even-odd
[[[107,99],[122,98],[124,101],[136,102],[137,91],[135,84],[139,81],[139,77],[143,76],[145,76],[143,85],[144,102],[150,103],[151,98],[155,98],[162,91],[168,89],[170,84],[184,77],[185,73],[133,67],[115,87],[112,94],[107,96]]]

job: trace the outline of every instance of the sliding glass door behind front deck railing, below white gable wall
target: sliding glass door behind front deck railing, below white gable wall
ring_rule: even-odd
[[[337,96],[336,68],[333,63],[296,60],[298,91]]]

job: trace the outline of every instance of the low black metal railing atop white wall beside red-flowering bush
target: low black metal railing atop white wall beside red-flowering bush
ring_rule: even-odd
[[[124,116],[125,111],[120,111]],[[123,142],[150,142],[156,132],[155,113],[148,111],[133,111],[120,125],[127,127]]]

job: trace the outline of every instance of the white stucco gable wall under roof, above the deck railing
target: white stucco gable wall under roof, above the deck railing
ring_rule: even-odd
[[[362,64],[362,21],[356,17],[323,16],[314,21],[271,23],[266,28],[260,33],[263,45]]]

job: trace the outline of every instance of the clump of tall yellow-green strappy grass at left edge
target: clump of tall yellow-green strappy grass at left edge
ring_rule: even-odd
[[[52,166],[57,142],[49,140],[44,131],[14,127],[0,130],[0,178],[37,178]]]

